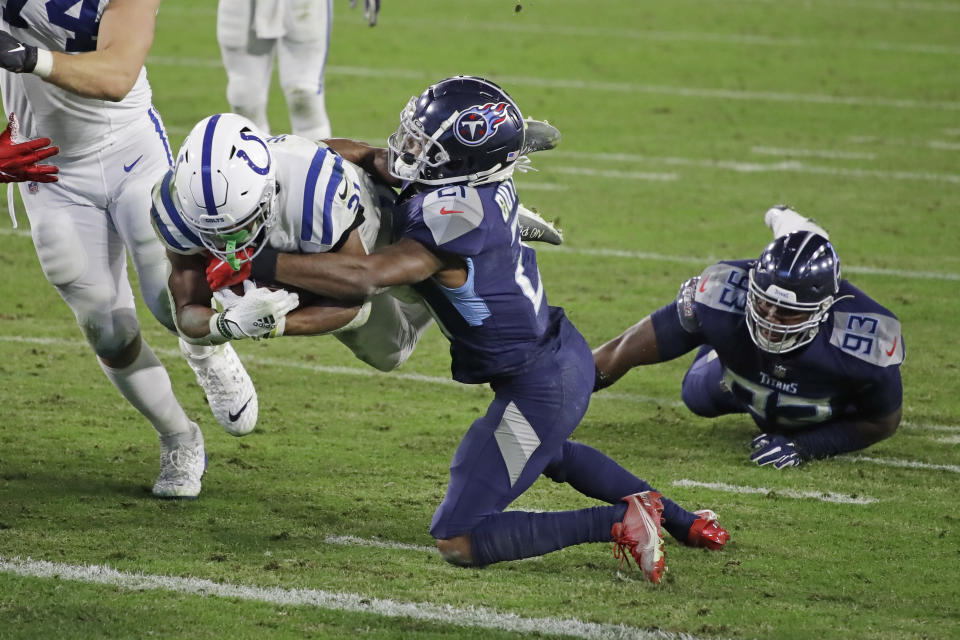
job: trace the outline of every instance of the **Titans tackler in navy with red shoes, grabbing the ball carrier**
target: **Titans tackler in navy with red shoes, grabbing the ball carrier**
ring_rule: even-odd
[[[587,410],[594,364],[563,309],[547,304],[535,252],[521,242],[511,175],[529,148],[524,130],[516,104],[491,82],[458,76],[429,87],[402,112],[389,154],[331,141],[402,182],[399,239],[366,256],[265,249],[253,277],[346,300],[413,285],[450,340],[454,379],[490,384],[496,396],[457,449],[433,517],[446,560],[484,566],[612,540],[658,582],[661,514],[684,544],[719,549],[729,535],[713,512],[661,499],[603,453],[568,440]],[[504,513],[541,474],[611,506]]]

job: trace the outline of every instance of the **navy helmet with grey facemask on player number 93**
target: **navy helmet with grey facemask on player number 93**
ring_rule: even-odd
[[[810,343],[840,288],[840,258],[830,241],[795,231],[771,242],[750,269],[747,330],[769,353]]]

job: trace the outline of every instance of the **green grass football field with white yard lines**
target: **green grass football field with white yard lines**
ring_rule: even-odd
[[[491,394],[448,381],[439,331],[390,375],[330,338],[238,344],[260,424],[236,439],[144,311],[210,463],[198,501],[157,501],[156,436],[44,280],[21,214],[19,231],[0,221],[0,638],[960,637],[960,2],[383,5],[371,29],[336,2],[335,135],[382,144],[411,95],[457,73],[557,125],[560,148],[517,185],[560,219],[566,244],[540,269],[591,344],[713,260],[758,255],[764,211],[793,204],[903,323],[899,433],[757,468],[752,423],[680,404],[689,356],[634,371],[574,437],[716,510],[727,548],[668,540],[660,586],[601,544],[457,569],[428,527]],[[227,109],[214,24],[213,0],[161,9],[148,69],[175,145]],[[542,480],[515,506],[591,504]]]

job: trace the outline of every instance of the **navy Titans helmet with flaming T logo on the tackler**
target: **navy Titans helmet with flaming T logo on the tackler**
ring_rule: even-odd
[[[410,98],[390,136],[390,173],[428,185],[505,180],[523,147],[523,116],[489,80],[455,76]]]

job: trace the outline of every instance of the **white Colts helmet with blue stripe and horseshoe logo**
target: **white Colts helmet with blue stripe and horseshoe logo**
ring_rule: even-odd
[[[183,220],[234,270],[266,243],[277,220],[276,168],[265,136],[235,113],[204,118],[190,131],[173,170],[172,195]],[[237,255],[245,249],[252,249]]]

